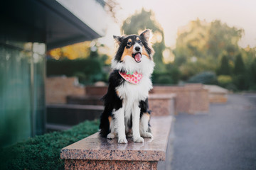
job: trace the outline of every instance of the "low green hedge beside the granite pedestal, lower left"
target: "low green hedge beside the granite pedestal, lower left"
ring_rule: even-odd
[[[60,149],[97,132],[99,121],[36,136],[0,150],[0,169],[64,169]]]

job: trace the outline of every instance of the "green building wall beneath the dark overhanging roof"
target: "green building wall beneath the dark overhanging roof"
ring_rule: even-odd
[[[43,43],[0,40],[0,147],[44,132]]]

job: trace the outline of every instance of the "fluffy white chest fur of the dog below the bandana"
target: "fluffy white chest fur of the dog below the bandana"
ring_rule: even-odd
[[[149,96],[152,89],[151,79],[143,77],[139,84],[131,84],[125,81],[124,84],[117,86],[117,94],[125,101],[142,101]]]

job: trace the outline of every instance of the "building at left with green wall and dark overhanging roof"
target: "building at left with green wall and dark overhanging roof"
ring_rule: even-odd
[[[1,3],[0,147],[45,132],[46,50],[104,35],[104,22],[93,29],[81,18],[92,5],[92,16],[105,13],[99,0]]]

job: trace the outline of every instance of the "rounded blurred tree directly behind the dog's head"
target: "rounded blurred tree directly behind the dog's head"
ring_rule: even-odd
[[[154,18],[153,11],[142,11],[129,16],[122,24],[121,32],[126,35],[138,34],[142,30],[149,28],[152,30],[154,36],[152,42],[154,43],[154,62],[156,63],[155,72],[165,72],[166,68],[162,59],[162,52],[165,49],[164,44],[164,30]]]

